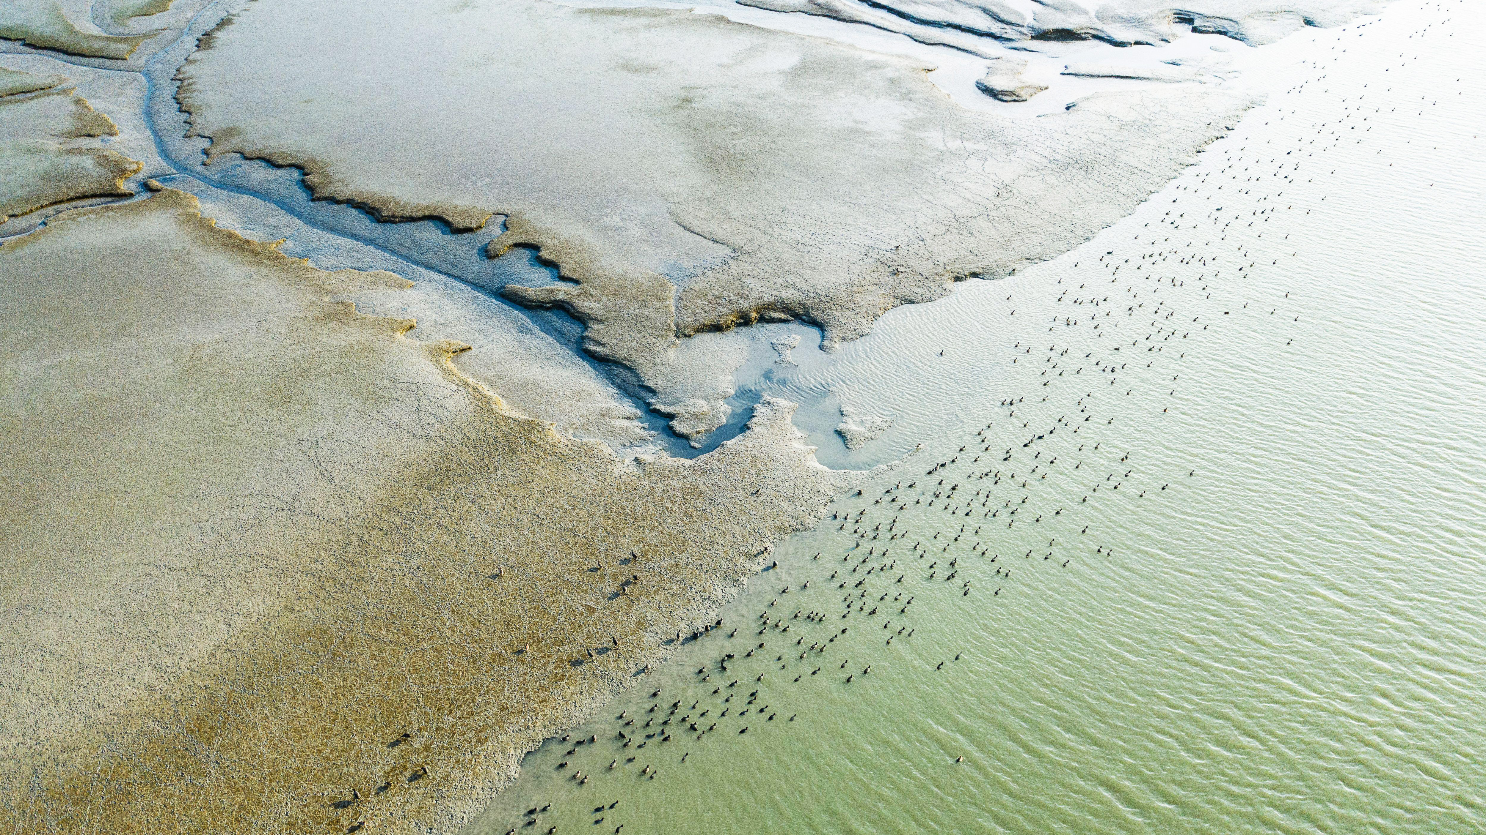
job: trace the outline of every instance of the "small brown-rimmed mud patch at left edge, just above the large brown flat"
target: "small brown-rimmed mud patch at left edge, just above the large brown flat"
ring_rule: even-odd
[[[123,181],[143,168],[138,162],[79,142],[117,135],[107,116],[71,90],[0,99],[0,222],[79,197],[134,194]]]

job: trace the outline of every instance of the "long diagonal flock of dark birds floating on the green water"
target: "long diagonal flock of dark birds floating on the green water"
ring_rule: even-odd
[[[936,620],[917,615],[923,608],[984,610],[1025,592],[1043,572],[1109,561],[1114,549],[1100,534],[1107,513],[1094,507],[1144,500],[1198,476],[1195,466],[1161,473],[1143,467],[1144,455],[1131,446],[1159,443],[1162,415],[1180,403],[1184,359],[1211,344],[1204,332],[1245,316],[1300,322],[1293,308],[1282,313],[1288,292],[1262,303],[1248,274],[1296,255],[1300,242],[1290,242],[1296,233],[1285,230],[1306,227],[1276,224],[1271,233],[1266,224],[1320,208],[1315,190],[1308,191],[1311,206],[1299,205],[1294,191],[1334,174],[1327,153],[1364,142],[1379,119],[1397,113],[1397,105],[1372,104],[1378,96],[1367,85],[1345,96],[1324,85],[1327,70],[1357,43],[1351,36],[1361,37],[1370,25],[1342,30],[1331,55],[1308,64],[1312,77],[1274,107],[1276,122],[1290,120],[1287,131],[1235,136],[1180,185],[1153,197],[1171,200],[1159,217],[1161,209],[1141,212],[1144,225],[1128,251],[1107,249],[1045,273],[1051,285],[1022,282],[1018,289],[1039,298],[1024,298],[1021,307],[1048,316],[1048,332],[1008,347],[997,381],[1015,395],[999,396],[984,426],[945,443],[938,460],[911,457],[886,482],[838,501],[813,538],[837,547],[789,565],[791,583],[770,583],[777,562],[765,570],[756,583],[771,593],[761,598],[755,589],[746,598],[758,601],[756,614],[719,618],[681,636],[695,644],[685,657],[707,659],[692,660],[684,684],[645,688],[648,697],[626,702],[637,706],[591,722],[588,734],[563,736],[526,768],[547,767],[585,786],[588,798],[602,792],[602,802],[584,804],[590,826],[614,825],[623,808],[615,777],[657,780],[685,768],[695,750],[788,727],[798,718],[794,710],[822,703],[805,690],[872,687],[881,669],[898,664],[953,670],[969,650],[945,657],[914,650],[915,633]],[[1403,53],[1383,70],[1415,59]],[[1331,96],[1327,104],[1340,98],[1340,116],[1299,129],[1296,123],[1321,110],[1306,95],[1317,85],[1324,88],[1320,95]],[[1433,104],[1433,96],[1421,102]],[[1299,329],[1271,332],[1290,346],[1294,337],[1284,334]],[[1113,430],[1116,421],[1132,429]],[[550,811],[550,802],[532,804],[499,831],[557,832],[547,823]],[[618,823],[612,832],[623,829]]]

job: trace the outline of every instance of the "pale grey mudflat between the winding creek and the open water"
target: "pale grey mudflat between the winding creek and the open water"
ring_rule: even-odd
[[[492,254],[536,248],[569,279],[505,295],[583,320],[688,433],[725,405],[687,389],[678,338],[801,319],[831,350],[1085,240],[1250,104],[1162,89],[1010,120],[838,42],[544,0],[257,0],[180,79],[211,154],[302,166],[382,217],[504,217]]]

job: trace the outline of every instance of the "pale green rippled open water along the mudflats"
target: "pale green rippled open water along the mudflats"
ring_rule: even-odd
[[[936,440],[471,831],[1486,828],[1482,24],[1300,36],[1134,217],[801,363]]]

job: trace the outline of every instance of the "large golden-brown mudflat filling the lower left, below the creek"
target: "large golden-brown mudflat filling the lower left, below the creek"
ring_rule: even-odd
[[[0,246],[0,831],[452,832],[847,483],[514,415],[398,286],[178,191]]]

